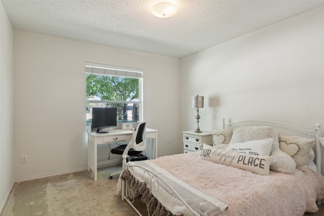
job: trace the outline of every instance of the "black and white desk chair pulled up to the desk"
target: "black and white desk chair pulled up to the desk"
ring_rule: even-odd
[[[145,150],[145,127],[146,121],[142,121],[137,124],[137,127],[132,128],[133,134],[132,139],[127,145],[120,145],[116,148],[111,149],[112,154],[127,155],[128,161],[131,161],[131,156],[136,156],[142,153]],[[115,171],[110,174],[109,179],[112,179],[112,176],[121,174],[122,170]]]

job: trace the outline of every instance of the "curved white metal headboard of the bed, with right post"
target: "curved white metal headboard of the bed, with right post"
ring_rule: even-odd
[[[279,125],[281,125],[281,126],[285,126],[285,129],[294,128],[296,132],[308,133],[308,138],[311,138],[312,135],[315,136],[316,137],[316,166],[317,166],[317,172],[321,173],[321,146],[324,147],[324,143],[320,143],[320,140],[319,140],[320,137],[323,137],[320,123],[316,124],[315,131],[309,131],[307,129],[303,129],[300,127],[296,127],[296,126],[292,126],[289,124],[280,123],[280,122],[276,122],[276,121],[246,120],[246,121],[236,121],[236,122],[226,123],[225,118],[223,118],[223,128],[228,128],[228,127],[231,127],[231,126],[237,125],[237,124],[246,124],[246,125],[250,124],[251,126],[253,126],[253,125],[269,125],[269,126],[273,126],[274,129],[276,127],[278,127]]]

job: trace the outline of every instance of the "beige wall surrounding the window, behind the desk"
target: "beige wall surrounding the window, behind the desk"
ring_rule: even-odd
[[[158,130],[158,155],[181,151],[178,58],[15,29],[15,180],[87,167],[85,62],[143,69],[144,120]]]

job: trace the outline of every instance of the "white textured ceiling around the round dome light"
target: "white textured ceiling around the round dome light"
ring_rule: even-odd
[[[165,0],[178,13],[157,18],[150,7],[162,0],[1,2],[16,29],[179,58],[324,5],[320,0]]]

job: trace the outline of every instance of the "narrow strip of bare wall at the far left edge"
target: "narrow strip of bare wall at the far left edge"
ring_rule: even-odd
[[[0,213],[14,185],[13,28],[0,2]]]

